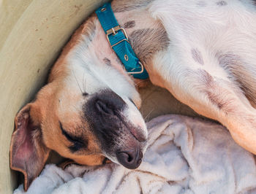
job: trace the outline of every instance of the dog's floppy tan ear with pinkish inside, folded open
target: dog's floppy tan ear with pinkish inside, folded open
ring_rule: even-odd
[[[42,141],[41,114],[36,103],[27,104],[15,117],[10,145],[10,167],[24,175],[24,190],[39,175],[50,150]]]

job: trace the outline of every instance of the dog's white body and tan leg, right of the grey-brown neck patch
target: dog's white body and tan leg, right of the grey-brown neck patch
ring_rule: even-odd
[[[249,1],[159,1],[151,7],[170,44],[154,74],[178,100],[225,125],[256,153],[256,8]],[[167,12],[167,10],[172,10]]]

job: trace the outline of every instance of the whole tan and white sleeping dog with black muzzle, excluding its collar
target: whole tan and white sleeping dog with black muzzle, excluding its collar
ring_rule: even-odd
[[[218,120],[256,154],[256,2],[115,0],[111,6],[150,81]],[[24,174],[25,190],[50,150],[84,165],[109,158],[137,168],[147,139],[140,84],[91,15],[64,48],[48,84],[15,117],[10,165]]]

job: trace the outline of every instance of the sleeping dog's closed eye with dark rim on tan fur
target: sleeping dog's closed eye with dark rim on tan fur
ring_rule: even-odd
[[[77,152],[78,150],[82,148],[86,148],[88,146],[88,141],[85,141],[81,137],[73,136],[72,134],[68,133],[66,130],[64,130],[61,122],[59,122],[59,125],[61,128],[62,134],[67,138],[67,140],[72,142],[72,146],[69,146],[69,150],[71,152]]]

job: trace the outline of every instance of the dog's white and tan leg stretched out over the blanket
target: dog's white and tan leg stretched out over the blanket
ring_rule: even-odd
[[[161,76],[162,87],[200,115],[218,120],[241,147],[256,154],[256,110],[236,82],[189,66],[179,66],[165,75]]]

